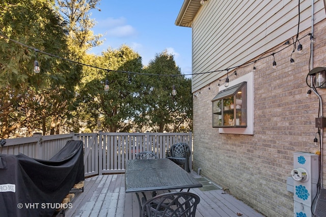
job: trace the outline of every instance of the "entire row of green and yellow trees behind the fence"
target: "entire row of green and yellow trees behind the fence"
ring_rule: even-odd
[[[90,18],[98,4],[99,0],[2,1],[1,138],[71,130],[192,130],[191,80],[181,74],[173,55],[163,51],[144,69],[141,56],[126,45],[101,55],[87,54],[101,43],[101,36],[93,35],[95,21]],[[38,74],[33,72],[36,59]],[[105,80],[110,82],[108,91]]]

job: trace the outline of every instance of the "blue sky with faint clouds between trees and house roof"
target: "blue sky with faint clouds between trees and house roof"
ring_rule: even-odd
[[[138,52],[143,65],[165,49],[174,55],[183,74],[191,74],[192,29],[175,25],[183,0],[112,1],[102,0],[91,18],[97,24],[94,34],[102,34],[103,45],[90,53],[101,54],[108,47],[125,44]]]

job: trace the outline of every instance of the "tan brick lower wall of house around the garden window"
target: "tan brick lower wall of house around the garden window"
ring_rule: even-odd
[[[325,25],[326,21],[322,21],[314,26],[313,67],[326,67]],[[300,33],[299,38],[310,31]],[[315,117],[319,101],[314,93],[307,97],[309,36],[300,39],[300,43],[304,52],[292,55],[295,65],[290,64],[293,45],[286,48],[283,43],[265,52],[267,56],[276,48],[274,52],[284,49],[275,54],[276,70],[272,68],[273,56],[256,62],[254,135],[219,134],[218,129],[212,128],[211,100],[218,94],[218,83],[224,85],[219,79],[225,77],[216,77],[194,96],[193,169],[201,168],[201,175],[228,188],[230,194],[266,216],[293,216],[293,195],[286,189],[286,178],[293,169],[293,152],[319,150],[313,142],[318,130]],[[253,65],[240,68],[237,76],[252,69]],[[317,90],[326,102],[326,89]],[[323,172],[326,174],[325,169]],[[326,181],[323,183],[325,188]]]

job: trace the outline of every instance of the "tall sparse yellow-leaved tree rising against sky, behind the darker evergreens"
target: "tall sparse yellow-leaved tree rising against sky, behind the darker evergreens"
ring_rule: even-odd
[[[98,9],[99,2],[100,0],[56,0],[58,11],[66,23],[67,44],[71,53],[69,59],[92,66],[96,62],[97,56],[89,55],[87,51],[102,44],[100,40],[102,35],[94,35],[92,31],[96,22],[91,19],[91,10]],[[100,11],[100,9],[98,10]],[[89,78],[89,72],[93,70],[90,67],[83,67],[83,77]],[[65,113],[66,127],[75,132],[79,132],[79,129],[83,127],[83,122],[79,121],[78,118],[88,119],[83,116],[85,114],[82,113],[84,110],[83,104],[78,105],[89,97],[88,95],[84,96],[84,91],[80,90],[80,86],[84,86],[85,82],[88,82],[87,79],[83,79],[82,83],[76,86],[77,97],[71,101]],[[60,119],[60,117],[58,116],[57,119]],[[51,125],[55,126],[56,123],[52,122]]]

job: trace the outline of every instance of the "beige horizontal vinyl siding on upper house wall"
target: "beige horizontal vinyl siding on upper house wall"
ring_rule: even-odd
[[[300,1],[300,32],[311,27],[311,2]],[[298,1],[208,0],[193,20],[193,73],[240,66],[296,37]],[[314,22],[325,18],[322,0],[314,2]],[[303,35],[299,35],[299,39]],[[308,45],[303,45],[307,47]],[[275,55],[277,59],[277,54]],[[240,69],[239,69],[240,70]],[[226,71],[193,76],[193,92]]]

